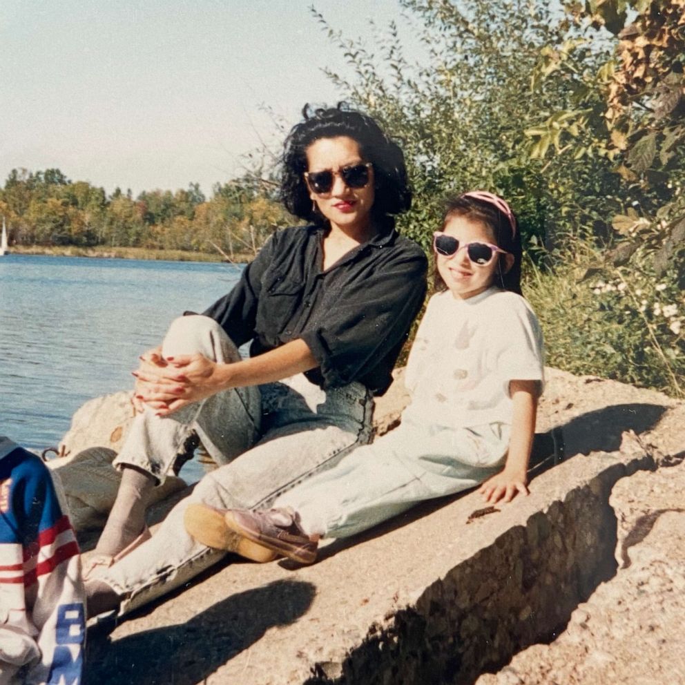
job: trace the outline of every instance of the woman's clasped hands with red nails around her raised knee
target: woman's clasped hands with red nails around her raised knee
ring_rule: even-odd
[[[160,376],[139,374],[146,383],[144,401],[157,409],[157,416],[173,414],[228,387],[220,378],[220,365],[202,354],[167,357],[165,363]]]

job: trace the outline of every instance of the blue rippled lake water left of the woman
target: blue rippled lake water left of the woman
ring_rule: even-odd
[[[0,435],[56,446],[86,400],[133,385],[142,351],[184,310],[203,311],[242,267],[6,255],[0,258]],[[195,480],[198,465],[182,475]]]

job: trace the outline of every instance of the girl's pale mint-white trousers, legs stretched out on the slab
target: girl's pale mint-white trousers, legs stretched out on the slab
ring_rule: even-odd
[[[405,414],[398,428],[282,494],[274,506],[296,510],[309,534],[348,537],[490,478],[504,465],[510,432],[504,423],[454,429],[413,423]]]

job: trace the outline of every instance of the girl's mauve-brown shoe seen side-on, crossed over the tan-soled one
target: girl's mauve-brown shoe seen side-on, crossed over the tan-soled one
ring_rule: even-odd
[[[229,509],[226,525],[244,538],[300,563],[316,561],[318,539],[307,535],[291,508],[249,511]]]

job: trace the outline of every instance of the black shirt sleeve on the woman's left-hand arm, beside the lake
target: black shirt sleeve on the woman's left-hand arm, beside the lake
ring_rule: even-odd
[[[213,318],[238,347],[255,336],[262,276],[273,258],[273,242],[272,235],[245,267],[235,287],[202,312],[204,316]]]

